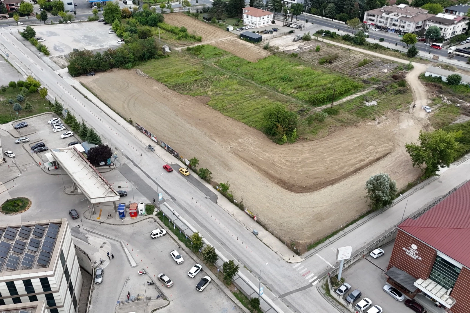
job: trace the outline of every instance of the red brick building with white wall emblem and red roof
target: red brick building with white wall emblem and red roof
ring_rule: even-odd
[[[470,182],[398,225],[385,275],[409,297],[421,292],[448,312],[470,312]]]

